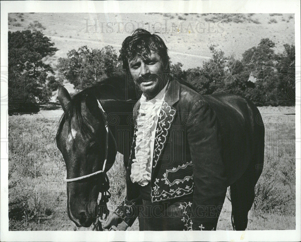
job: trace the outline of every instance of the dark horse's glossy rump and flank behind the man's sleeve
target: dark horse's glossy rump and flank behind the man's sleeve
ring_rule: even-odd
[[[239,95],[202,95],[215,111],[223,139],[223,160],[229,185],[251,164],[258,179],[264,156],[264,126],[257,107]],[[250,166],[249,166],[250,167]]]

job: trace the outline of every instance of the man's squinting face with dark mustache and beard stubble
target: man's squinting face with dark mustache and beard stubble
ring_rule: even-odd
[[[166,85],[164,66],[160,55],[154,51],[147,58],[137,57],[129,61],[129,70],[140,90],[149,98],[156,96]]]

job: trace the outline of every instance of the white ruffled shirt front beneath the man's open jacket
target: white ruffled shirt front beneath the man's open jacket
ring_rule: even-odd
[[[151,100],[147,101],[144,94],[139,100],[140,109],[137,116],[135,159],[133,159],[130,177],[132,182],[137,182],[141,186],[146,186],[151,181],[156,127],[166,87],[167,84]]]

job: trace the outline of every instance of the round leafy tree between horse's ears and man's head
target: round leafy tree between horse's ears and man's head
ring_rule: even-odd
[[[80,47],[71,50],[67,58],[59,58],[57,68],[77,90],[83,90],[107,77],[123,73],[112,46],[100,49]]]

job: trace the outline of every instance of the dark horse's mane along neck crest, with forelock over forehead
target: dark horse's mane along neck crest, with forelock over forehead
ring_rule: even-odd
[[[190,85],[188,82],[179,81],[180,83],[188,86],[189,88],[195,90],[195,88]],[[71,99],[70,103],[67,105],[64,114],[61,117],[59,128],[57,130],[56,139],[62,132],[64,123],[68,123],[69,132],[71,132],[71,120],[73,117],[75,118],[74,121],[76,126],[79,127],[80,132],[83,135],[92,135],[92,130],[89,126],[88,120],[82,115],[81,110],[81,102],[85,100],[88,95],[94,95],[98,97],[100,94],[99,92],[105,93],[106,96],[111,95],[116,100],[138,100],[137,92],[135,89],[135,84],[133,82],[127,82],[126,76],[112,76],[108,77],[95,85],[84,89],[83,91],[79,92],[78,94],[74,95]],[[125,95],[127,93],[127,97]]]

